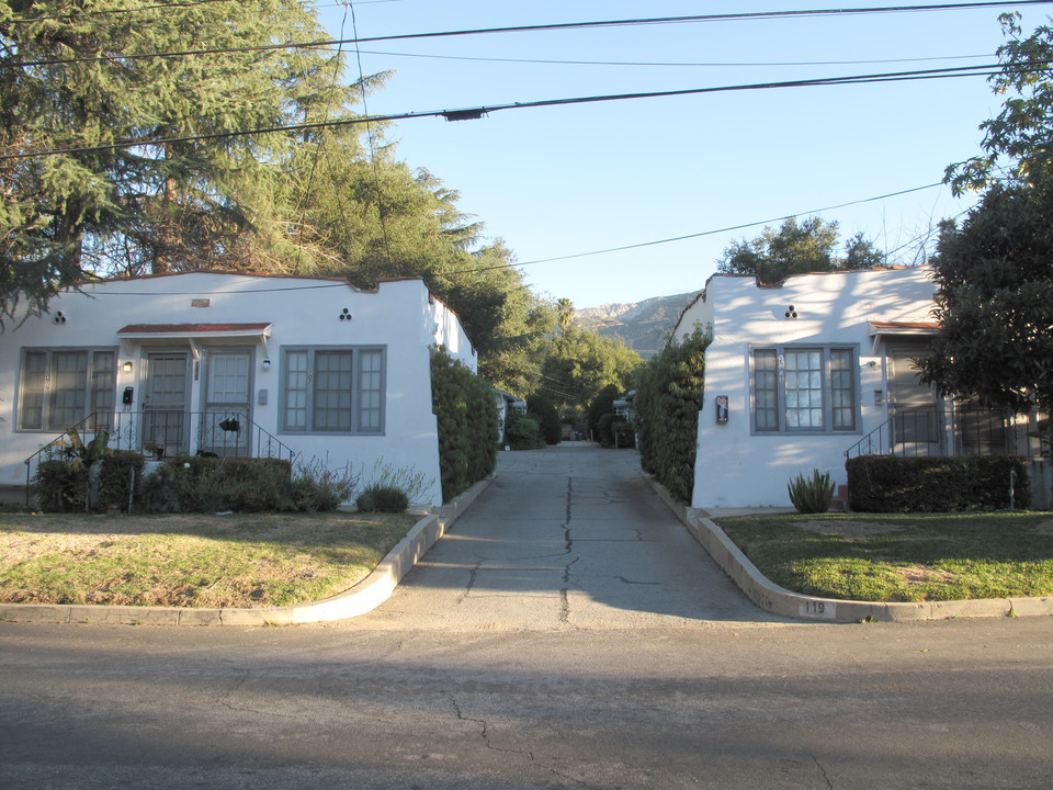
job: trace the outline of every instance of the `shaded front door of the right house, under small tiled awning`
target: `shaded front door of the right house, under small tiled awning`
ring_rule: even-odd
[[[890,444],[896,455],[942,454],[940,402],[932,387],[921,383],[914,363],[924,351],[924,346],[904,346],[888,351]]]

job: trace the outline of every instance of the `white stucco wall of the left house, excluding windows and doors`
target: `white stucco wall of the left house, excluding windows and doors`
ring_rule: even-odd
[[[194,306],[204,304],[207,306]],[[219,348],[250,354],[251,420],[293,448],[303,461],[317,459],[329,469],[351,472],[365,483],[376,464],[414,467],[431,483],[420,504],[441,505],[437,421],[432,414],[430,347],[445,346],[454,359],[476,370],[475,353],[460,320],[444,304],[429,298],[420,280],[381,282],[363,292],[344,281],[181,273],[113,280],[65,292],[50,314],[19,326],[10,321],[0,335],[0,486],[25,485],[24,461],[60,431],[19,431],[18,376],[23,348],[114,348],[117,350],[116,410],[121,393],[135,388],[129,411],[143,410],[147,353],[191,347],[186,337],[122,339],[133,324],[271,325],[265,340],[216,337],[194,340],[201,366],[192,368],[186,410],[202,411],[207,352]],[[347,313],[344,313],[347,311]],[[61,312],[65,323],[56,323]],[[350,315],[350,319],[347,316]],[[341,320],[340,316],[344,316]],[[283,432],[282,349],[284,347],[381,346],[385,350],[384,413],[381,435]],[[270,365],[264,365],[264,359]],[[132,362],[132,372],[122,370]],[[196,375],[195,375],[196,373]],[[265,404],[261,400],[265,399]]]

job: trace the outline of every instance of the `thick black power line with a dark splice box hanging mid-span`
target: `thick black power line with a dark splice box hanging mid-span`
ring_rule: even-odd
[[[1043,67],[1053,63],[1053,60],[1032,60],[1029,67]],[[64,154],[87,154],[105,150],[115,150],[118,148],[134,148],[139,146],[155,147],[165,146],[172,143],[194,143],[210,139],[228,139],[230,137],[242,137],[249,135],[274,134],[280,132],[307,132],[337,126],[351,126],[355,124],[370,124],[381,121],[405,121],[418,117],[443,117],[446,121],[472,121],[484,117],[491,112],[501,110],[526,110],[545,106],[565,106],[571,104],[595,104],[600,102],[629,101],[637,99],[661,99],[686,95],[702,95],[705,93],[727,93],[735,91],[756,91],[774,90],[785,88],[814,88],[829,86],[849,86],[868,84],[875,82],[904,82],[913,80],[947,79],[951,77],[983,77],[999,74],[1001,67],[995,64],[984,66],[954,66],[942,69],[920,69],[916,71],[895,71],[876,75],[854,75],[849,77],[820,77],[814,79],[790,80],[784,82],[757,82],[752,84],[720,86],[713,88],[687,88],[669,91],[641,91],[636,93],[615,93],[608,95],[578,97],[574,99],[546,99],[532,102],[512,102],[506,104],[494,104],[488,106],[467,108],[461,110],[431,110],[424,112],[407,112],[390,115],[360,115],[339,121],[321,121],[315,123],[301,123],[268,126],[262,128],[214,132],[212,134],[185,135],[180,137],[159,137],[159,138],[127,138],[93,146],[76,146],[69,148],[49,148],[41,150],[23,151],[20,154],[5,154],[0,156],[0,161],[9,159],[32,159],[45,156],[58,156]]]

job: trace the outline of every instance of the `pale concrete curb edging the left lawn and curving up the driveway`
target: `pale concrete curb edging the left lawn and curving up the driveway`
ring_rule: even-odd
[[[410,528],[373,573],[351,589],[310,603],[260,609],[189,609],[135,606],[0,603],[0,620],[12,622],[139,625],[292,625],[343,620],[386,601],[398,583],[461,515],[486,490],[494,475],[429,514]]]

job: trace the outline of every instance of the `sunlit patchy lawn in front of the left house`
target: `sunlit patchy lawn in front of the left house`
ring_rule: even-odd
[[[381,514],[0,511],[0,602],[267,607],[365,578],[416,522]]]

